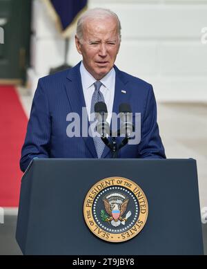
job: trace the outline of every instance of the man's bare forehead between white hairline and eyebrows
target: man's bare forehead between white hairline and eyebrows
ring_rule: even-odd
[[[86,38],[112,38],[118,36],[118,22],[114,17],[86,19],[83,25]]]

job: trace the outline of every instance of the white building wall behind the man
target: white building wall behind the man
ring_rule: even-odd
[[[33,0],[33,7],[32,93],[38,78],[64,58],[64,41],[46,7],[41,0]],[[207,0],[89,0],[95,7],[110,8],[121,20],[121,70],[150,82],[159,101],[207,101]],[[68,63],[80,59],[73,36]]]

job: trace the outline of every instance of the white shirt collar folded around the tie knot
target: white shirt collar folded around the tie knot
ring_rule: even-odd
[[[80,66],[81,80],[84,89],[88,89],[92,84],[96,82],[95,78],[86,70],[83,62]],[[103,77],[100,82],[106,89],[112,89],[113,81],[115,81],[115,68],[112,68],[108,74]]]

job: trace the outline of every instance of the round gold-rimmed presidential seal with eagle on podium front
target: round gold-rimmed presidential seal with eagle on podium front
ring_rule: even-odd
[[[118,243],[132,239],[144,228],[148,201],[133,181],[104,178],[86,195],[83,214],[92,233],[105,241]]]

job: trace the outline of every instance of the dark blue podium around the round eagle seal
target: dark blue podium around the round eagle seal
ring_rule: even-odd
[[[109,177],[137,183],[148,219],[137,236],[110,243],[90,232],[83,201]],[[21,180],[16,239],[23,254],[204,254],[193,159],[34,159]]]

